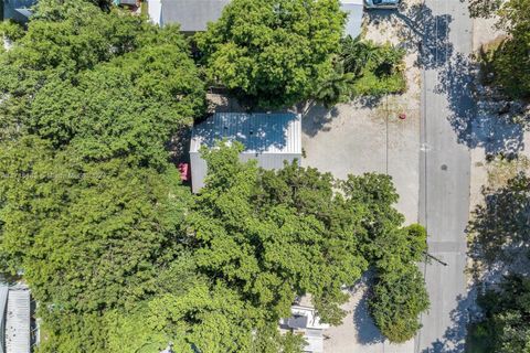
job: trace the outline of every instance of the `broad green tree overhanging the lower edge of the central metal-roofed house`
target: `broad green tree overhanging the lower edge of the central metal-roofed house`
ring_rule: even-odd
[[[358,238],[348,234],[359,216],[349,228],[330,228],[340,202],[331,175],[296,164],[277,174],[258,171],[255,163],[239,162],[236,149],[205,158],[211,174],[190,216],[198,266],[241,288],[272,318],[288,315],[295,296],[310,292],[325,320],[340,320],[327,306],[344,300],[340,287],[353,284],[367,261]]]

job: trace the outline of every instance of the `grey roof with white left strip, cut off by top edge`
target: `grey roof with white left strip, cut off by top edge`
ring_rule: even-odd
[[[230,0],[148,0],[151,21],[159,25],[179,23],[184,33],[206,30],[215,22]]]

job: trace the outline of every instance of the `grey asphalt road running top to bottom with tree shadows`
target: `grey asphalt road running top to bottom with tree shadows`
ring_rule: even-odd
[[[473,115],[468,76],[471,20],[460,0],[425,0],[422,57],[422,153],[420,222],[430,253],[445,263],[424,266],[431,298],[415,340],[422,353],[464,352],[466,235],[469,214],[470,154],[458,141],[458,121]],[[460,131],[462,135],[462,131]]]

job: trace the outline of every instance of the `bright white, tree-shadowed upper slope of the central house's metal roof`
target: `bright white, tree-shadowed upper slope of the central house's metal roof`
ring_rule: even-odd
[[[300,154],[300,117],[290,113],[218,113],[193,128],[190,153],[222,139],[242,142],[243,153]]]

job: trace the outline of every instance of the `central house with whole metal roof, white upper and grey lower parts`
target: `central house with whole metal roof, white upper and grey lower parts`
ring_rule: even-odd
[[[227,139],[244,146],[241,160],[257,160],[264,169],[280,169],[284,161],[301,159],[300,116],[285,114],[218,113],[193,127],[190,143],[191,185],[199,192],[204,185],[206,162],[201,147],[212,148]]]

